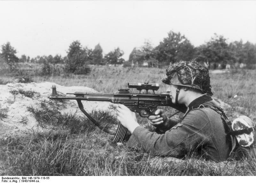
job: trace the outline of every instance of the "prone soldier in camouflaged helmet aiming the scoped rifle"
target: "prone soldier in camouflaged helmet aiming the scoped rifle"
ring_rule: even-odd
[[[169,66],[162,81],[169,85],[172,103],[185,104],[186,113],[175,120],[157,109],[155,116],[149,116],[156,132],[150,132],[138,124],[135,113],[120,104],[117,119],[132,133],[128,146],[157,156],[182,158],[194,152],[205,159],[226,160],[232,142],[225,131],[225,114],[211,97],[209,70],[195,61],[180,61]]]

